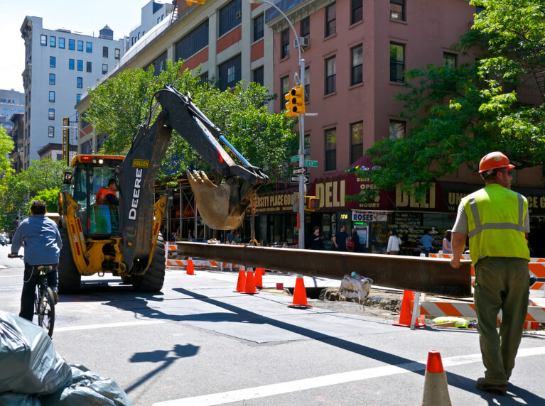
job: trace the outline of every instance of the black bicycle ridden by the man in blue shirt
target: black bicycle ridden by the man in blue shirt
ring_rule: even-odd
[[[23,258],[11,256],[9,258]],[[55,297],[53,290],[48,286],[47,274],[53,270],[53,265],[34,265],[32,275],[38,271],[38,282],[34,293],[34,314],[38,316],[38,326],[45,330],[48,336],[53,337],[55,327]]]

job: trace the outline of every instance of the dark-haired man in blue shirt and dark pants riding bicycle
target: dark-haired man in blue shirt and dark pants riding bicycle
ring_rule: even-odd
[[[25,273],[19,316],[32,321],[34,292],[38,283],[38,273],[34,273],[33,270],[37,265],[53,265],[47,279],[48,286],[53,290],[53,299],[57,304],[57,266],[60,248],[63,248],[57,224],[45,216],[45,202],[43,200],[32,202],[31,216],[21,221],[21,225],[15,231],[13,241],[11,241],[11,253],[8,256],[15,258],[21,246],[25,247]]]

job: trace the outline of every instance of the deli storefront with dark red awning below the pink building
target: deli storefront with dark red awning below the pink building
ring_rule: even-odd
[[[314,226],[323,231],[325,248],[329,249],[331,238],[340,225],[345,225],[349,235],[352,229],[357,231],[364,252],[385,252],[392,228],[397,229],[403,241],[401,253],[419,255],[420,238],[426,230],[435,239],[434,251],[439,251],[445,231],[454,225],[460,199],[480,187],[482,185],[434,182],[421,201],[395,190],[379,192],[374,202],[360,204],[350,202],[348,197],[360,190],[376,189],[367,177],[349,173],[318,178],[307,185],[306,196],[320,198],[320,209],[305,215],[307,248]],[[531,255],[545,257],[544,244],[540,242],[545,238],[545,190],[517,187],[513,190],[523,194],[529,202]],[[298,243],[297,213],[293,212],[296,192],[294,186],[258,195],[255,225],[258,241],[264,245]]]

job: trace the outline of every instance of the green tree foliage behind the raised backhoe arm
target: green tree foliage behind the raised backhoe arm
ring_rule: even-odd
[[[297,138],[291,132],[291,119],[267,112],[266,103],[273,99],[267,89],[240,82],[234,89],[220,92],[213,80],[201,82],[199,77],[183,70],[182,61],[167,61],[166,70],[158,77],[153,75],[151,67],[147,71],[126,70],[90,90],[90,108],[85,119],[96,133],[108,134],[101,153],[126,154],[139,126],[150,114],[153,94],[165,84],[190,93],[199,109],[252,165],[264,168],[273,179],[286,175],[286,162],[296,149]],[[183,136],[174,132],[160,175],[176,176],[190,168],[210,169]]]

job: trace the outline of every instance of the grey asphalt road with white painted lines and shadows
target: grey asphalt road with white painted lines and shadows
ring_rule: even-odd
[[[23,263],[8,251],[0,247],[0,309],[17,314]],[[236,273],[195,272],[169,271],[155,295],[85,278],[79,295],[60,297],[55,349],[114,379],[134,405],[419,405],[432,349],[453,405],[545,404],[542,335],[523,337],[509,393],[495,396],[475,389],[484,371],[475,330],[411,331],[354,304],[293,309],[290,296],[233,292]],[[264,276],[276,282],[295,277]]]

